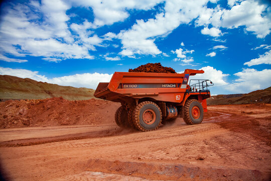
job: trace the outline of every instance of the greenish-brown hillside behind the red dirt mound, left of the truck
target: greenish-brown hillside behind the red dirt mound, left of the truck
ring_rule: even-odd
[[[10,75],[0,75],[0,99],[46,99],[63,97],[66,100],[89,100],[94,98],[91,88],[75,88],[57,84],[19,78]]]

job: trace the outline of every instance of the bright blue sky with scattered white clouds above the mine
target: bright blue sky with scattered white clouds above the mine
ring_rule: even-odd
[[[271,86],[269,1],[4,1],[0,74],[96,88],[161,62],[211,79],[213,95]],[[192,77],[191,77],[192,78]]]

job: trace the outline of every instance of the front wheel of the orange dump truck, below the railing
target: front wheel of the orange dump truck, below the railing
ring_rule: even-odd
[[[203,108],[198,100],[187,100],[184,105],[184,121],[188,125],[200,124],[203,120]]]

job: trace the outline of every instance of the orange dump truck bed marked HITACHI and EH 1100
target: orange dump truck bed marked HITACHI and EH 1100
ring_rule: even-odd
[[[188,93],[189,76],[196,73],[204,71],[186,69],[184,73],[115,72],[109,83],[99,83],[94,96],[113,102],[148,97],[157,101],[181,103],[184,94]]]

